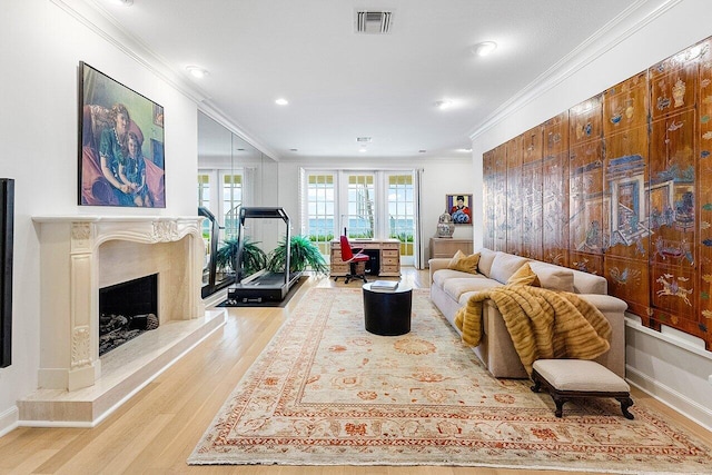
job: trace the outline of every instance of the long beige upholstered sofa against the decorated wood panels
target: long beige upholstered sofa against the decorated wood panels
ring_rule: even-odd
[[[431,299],[455,327],[456,311],[478,290],[503,286],[525,263],[537,275],[543,288],[573,291],[593,304],[611,324],[611,349],[596,362],[621,377],[625,377],[625,323],[627,305],[607,295],[607,281],[601,276],[568,269],[553,264],[531,260],[486,248],[479,251],[477,274],[448,269],[451,259],[431,259]],[[507,333],[502,315],[492,300],[483,306],[482,343],[473,348],[490,373],[501,378],[528,377]],[[455,327],[455,329],[457,329]],[[459,330],[457,330],[459,331]]]

